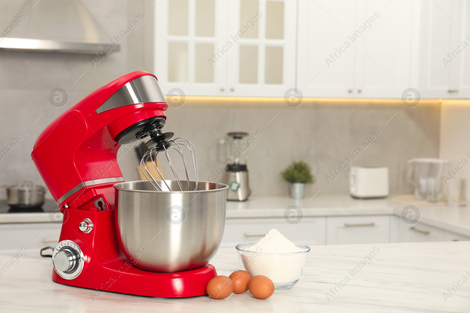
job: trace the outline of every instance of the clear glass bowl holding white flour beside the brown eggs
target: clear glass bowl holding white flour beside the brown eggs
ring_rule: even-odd
[[[238,258],[242,267],[250,273],[251,277],[265,275],[274,282],[275,290],[288,289],[295,285],[304,272],[307,255],[310,248],[306,245],[296,244],[302,249],[292,253],[269,253],[247,251],[256,242],[237,244]]]

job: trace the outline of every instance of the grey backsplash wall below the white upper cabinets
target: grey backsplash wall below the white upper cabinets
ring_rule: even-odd
[[[170,107],[167,115],[165,129],[196,146],[200,179],[209,179],[223,165],[218,139],[228,131],[261,130],[263,134],[248,149],[254,195],[287,195],[280,172],[294,160],[310,164],[316,176],[317,182],[307,189],[310,197],[319,189],[325,194],[348,193],[350,166],[386,166],[390,192],[411,192],[405,179],[407,160],[439,155],[440,105],[436,104],[409,108],[396,102],[304,103],[292,108],[278,101],[232,105],[187,101],[182,107]],[[340,172],[337,167],[344,168],[340,165],[345,159],[351,164]]]

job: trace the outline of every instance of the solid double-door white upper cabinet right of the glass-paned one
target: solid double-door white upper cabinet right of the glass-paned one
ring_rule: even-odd
[[[400,98],[416,70],[416,9],[407,0],[299,0],[298,89],[304,97]]]

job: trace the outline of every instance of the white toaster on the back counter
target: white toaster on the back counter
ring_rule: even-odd
[[[349,193],[352,198],[385,198],[388,195],[388,168],[351,167]]]

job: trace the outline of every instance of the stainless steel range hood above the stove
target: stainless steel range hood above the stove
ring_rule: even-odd
[[[0,49],[31,52],[119,51],[111,42],[104,25],[79,0],[27,0],[0,33]]]

